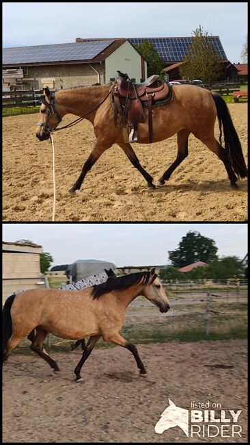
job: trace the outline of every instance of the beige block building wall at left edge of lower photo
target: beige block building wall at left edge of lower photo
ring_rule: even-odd
[[[16,290],[40,286],[40,246],[3,243],[3,303]]]

